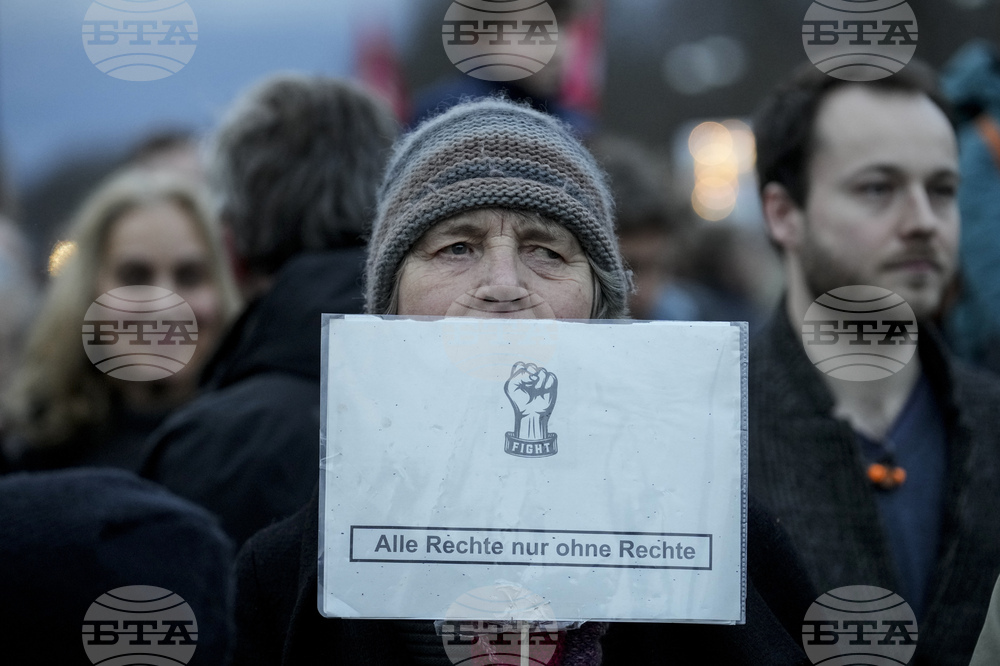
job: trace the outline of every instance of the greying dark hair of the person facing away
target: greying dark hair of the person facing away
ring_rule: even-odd
[[[347,82],[282,74],[251,89],[215,138],[219,212],[248,271],[304,251],[360,246],[398,126]]]

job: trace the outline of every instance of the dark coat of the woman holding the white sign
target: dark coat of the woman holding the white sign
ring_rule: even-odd
[[[611,623],[603,664],[808,664],[802,618],[814,590],[787,535],[753,501],[746,624]],[[450,666],[431,622],[342,620],[317,610],[319,502],[252,538],[237,558],[238,666]]]

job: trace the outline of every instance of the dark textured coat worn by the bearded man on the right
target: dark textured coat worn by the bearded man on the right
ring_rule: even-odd
[[[876,490],[851,425],[784,308],[750,348],[750,490],[778,517],[821,592],[900,590]],[[918,353],[947,434],[940,547],[913,664],[966,666],[1000,573],[1000,382],[950,358],[927,326]]]

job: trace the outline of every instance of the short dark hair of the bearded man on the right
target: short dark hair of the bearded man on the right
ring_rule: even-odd
[[[806,63],[775,88],[754,114],[761,193],[768,183],[779,183],[796,205],[805,206],[809,196],[809,163],[816,148],[816,116],[823,100],[847,85],[862,85],[883,93],[926,95],[954,126],[951,107],[938,90],[937,77],[922,62],[914,60],[890,77],[865,83],[834,78]],[[864,119],[859,118],[858,122]]]

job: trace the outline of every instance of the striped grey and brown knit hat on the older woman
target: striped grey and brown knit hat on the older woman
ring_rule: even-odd
[[[561,121],[503,99],[459,104],[400,139],[386,167],[368,245],[365,308],[389,306],[396,272],[430,227],[482,208],[534,212],[565,226],[608,275],[611,318],[631,286],[603,172]]]

